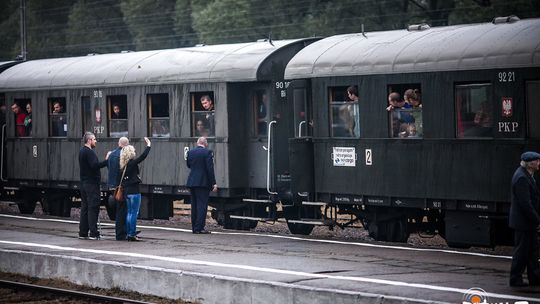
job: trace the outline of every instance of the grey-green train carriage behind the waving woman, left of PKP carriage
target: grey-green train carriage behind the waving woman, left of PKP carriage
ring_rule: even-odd
[[[282,103],[283,90],[275,89],[276,83],[283,83],[290,58],[312,41],[89,54],[11,67],[0,74],[2,98],[8,109],[31,104],[32,129],[25,131],[16,115],[8,113],[4,189],[24,213],[33,212],[41,201],[50,214],[68,215],[77,201],[77,155],[85,131],[96,134],[100,159],[120,136],[128,136],[139,151],[142,137],[148,136],[154,144],[141,166],[141,215],[168,218],[172,201],[189,195],[184,187],[186,149],[198,136],[207,136],[220,188],[211,205],[230,226],[229,209],[245,204],[242,199],[268,197],[266,189],[273,187],[263,148],[267,134],[259,130],[259,120],[265,123],[273,104]],[[213,100],[213,109],[201,106],[204,95]],[[264,117],[257,112],[261,106],[267,107]],[[204,128],[197,129],[202,120]],[[104,194],[106,176],[104,169]]]

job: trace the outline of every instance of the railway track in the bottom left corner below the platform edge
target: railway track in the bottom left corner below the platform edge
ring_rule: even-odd
[[[8,302],[10,303],[16,303],[16,301],[24,300],[22,298],[28,297],[30,297],[32,301],[39,301],[40,303],[49,300],[51,303],[58,303],[58,301],[60,301],[60,303],[71,301],[84,301],[85,303],[153,303],[8,280],[0,280],[0,288],[13,291],[11,294],[2,294],[2,298],[4,298],[4,300],[9,299]],[[21,292],[23,293],[21,294]],[[25,294],[24,292],[29,292],[29,294]]]

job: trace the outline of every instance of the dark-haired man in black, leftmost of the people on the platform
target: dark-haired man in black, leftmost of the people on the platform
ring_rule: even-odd
[[[84,146],[79,151],[79,171],[81,177],[79,238],[99,240],[101,238],[97,229],[99,205],[101,202],[101,192],[99,189],[101,173],[99,169],[105,167],[107,161],[99,162],[96,152],[94,152],[97,143],[94,133],[84,133],[83,141]],[[90,231],[90,235],[88,235],[88,231]]]

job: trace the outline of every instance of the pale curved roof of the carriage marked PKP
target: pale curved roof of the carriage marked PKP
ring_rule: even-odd
[[[540,19],[346,34],[296,54],[285,79],[540,65]]]

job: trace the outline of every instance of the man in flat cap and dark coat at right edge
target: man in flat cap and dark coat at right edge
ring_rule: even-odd
[[[540,154],[525,152],[512,177],[512,203],[509,224],[514,229],[514,253],[510,269],[510,286],[540,285],[538,263],[538,230],[540,229],[540,191],[534,173],[540,167]],[[529,283],[523,281],[527,269]]]

